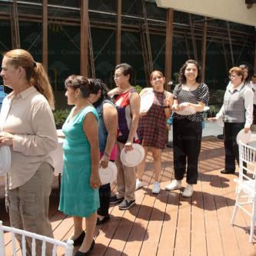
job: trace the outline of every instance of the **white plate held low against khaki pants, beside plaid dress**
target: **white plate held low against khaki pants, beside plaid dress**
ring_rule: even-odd
[[[120,155],[121,162],[128,167],[139,165],[145,156],[145,150],[141,145],[133,143],[132,148],[133,150],[126,152],[123,148]]]

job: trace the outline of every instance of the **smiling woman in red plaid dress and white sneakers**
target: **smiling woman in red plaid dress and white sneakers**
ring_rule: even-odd
[[[136,189],[142,187],[142,175],[145,171],[145,160],[148,148],[154,158],[155,181],[152,188],[153,194],[160,192],[161,151],[165,148],[165,130],[167,118],[171,117],[173,98],[170,92],[165,91],[165,77],[161,71],[155,70],[150,75],[152,88],[144,88],[140,96],[149,91],[154,93],[154,101],[148,111],[140,113],[138,125],[139,137],[145,150],[145,158],[138,165]]]

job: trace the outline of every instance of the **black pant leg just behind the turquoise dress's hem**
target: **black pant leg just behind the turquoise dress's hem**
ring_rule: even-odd
[[[101,185],[98,189],[100,208],[98,208],[98,214],[101,216],[108,217],[109,199],[111,194],[110,183]]]

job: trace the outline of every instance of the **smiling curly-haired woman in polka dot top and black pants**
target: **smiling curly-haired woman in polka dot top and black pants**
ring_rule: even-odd
[[[201,149],[203,109],[208,105],[208,86],[201,81],[198,62],[188,60],[180,70],[180,84],[173,91],[175,111],[173,120],[173,148],[175,180],[166,190],[181,189],[187,170],[187,186],[182,195],[191,197],[198,181],[198,157]],[[186,167],[187,165],[187,167]]]

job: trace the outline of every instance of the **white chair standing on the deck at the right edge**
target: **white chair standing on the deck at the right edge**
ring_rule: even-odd
[[[256,221],[256,148],[238,142],[239,147],[239,178],[236,188],[236,202],[231,217],[231,224],[234,223],[238,208],[241,208],[251,217],[251,230],[249,242],[252,243],[254,236],[254,225]],[[246,165],[245,165],[246,163]]]

